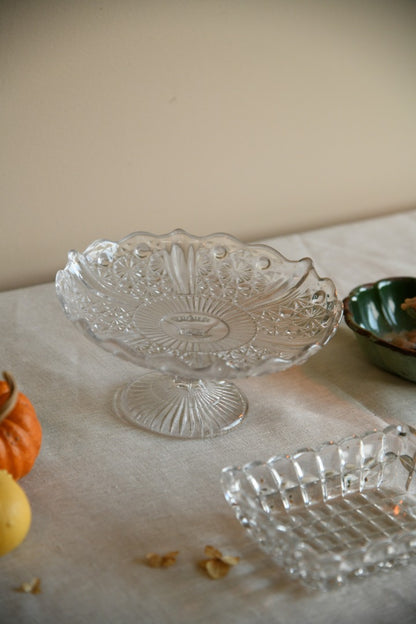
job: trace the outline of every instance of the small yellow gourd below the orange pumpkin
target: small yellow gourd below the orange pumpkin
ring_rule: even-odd
[[[31,520],[25,492],[7,470],[0,470],[0,557],[23,542]]]

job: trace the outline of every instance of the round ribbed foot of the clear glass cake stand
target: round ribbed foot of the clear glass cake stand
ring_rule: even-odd
[[[123,420],[176,438],[210,438],[238,425],[247,399],[228,381],[201,381],[148,373],[120,388],[114,411]]]

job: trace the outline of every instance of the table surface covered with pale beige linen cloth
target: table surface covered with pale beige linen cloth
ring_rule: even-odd
[[[340,298],[358,284],[414,274],[416,210],[268,239],[310,256]],[[415,385],[371,365],[344,321],[308,362],[237,381],[246,420],[211,440],[157,436],[118,420],[117,388],[140,374],[66,319],[53,284],[0,294],[1,366],[43,427],[21,480],[33,512],[19,548],[0,559],[0,622],[256,624],[416,621],[416,567],[320,592],[287,578],[225,502],[221,469],[387,423],[416,424]],[[240,563],[221,580],[199,568],[212,544]],[[178,550],[152,569],[149,552]],[[15,591],[39,577],[42,592]]]

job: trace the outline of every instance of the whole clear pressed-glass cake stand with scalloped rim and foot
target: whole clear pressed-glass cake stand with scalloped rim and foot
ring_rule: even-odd
[[[151,369],[117,414],[183,438],[224,433],[247,400],[231,378],[301,364],[335,333],[342,302],[312,260],[227,234],[134,232],[70,251],[56,276],[68,318],[96,344]]]

